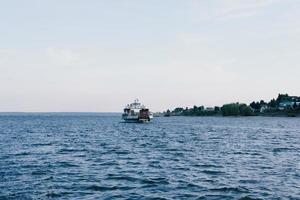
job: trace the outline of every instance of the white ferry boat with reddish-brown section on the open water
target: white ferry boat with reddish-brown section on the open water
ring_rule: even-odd
[[[152,118],[153,114],[146,106],[142,105],[138,99],[128,104],[122,114],[122,119],[126,122],[149,122]]]

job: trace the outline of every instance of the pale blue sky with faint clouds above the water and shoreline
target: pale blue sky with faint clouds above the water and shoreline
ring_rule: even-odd
[[[299,0],[0,0],[0,111],[300,95]]]

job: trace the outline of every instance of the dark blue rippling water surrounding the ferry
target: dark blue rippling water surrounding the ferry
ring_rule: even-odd
[[[300,118],[2,114],[0,199],[300,199]]]

